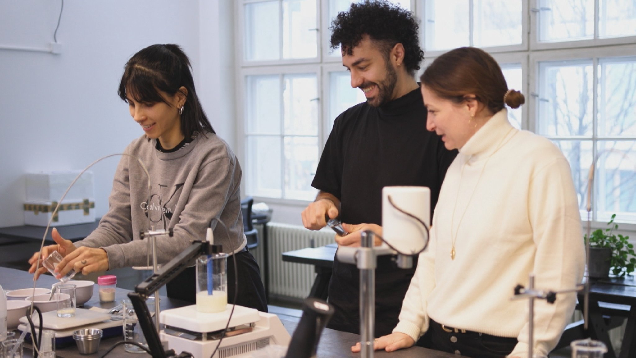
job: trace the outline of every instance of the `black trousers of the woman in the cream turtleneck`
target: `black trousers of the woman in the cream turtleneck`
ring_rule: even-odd
[[[466,331],[455,332],[451,327],[442,328],[441,324],[431,320],[424,346],[443,352],[466,355],[473,358],[502,358],[510,354],[517,344],[516,338],[492,336],[491,334]],[[450,330],[450,332],[447,332]],[[422,338],[418,341],[421,345]]]

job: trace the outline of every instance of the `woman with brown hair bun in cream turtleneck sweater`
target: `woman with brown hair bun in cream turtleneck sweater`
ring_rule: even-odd
[[[432,219],[427,251],[392,334],[376,349],[429,346],[468,357],[526,357],[527,301],[511,301],[534,273],[541,289],[571,289],[584,270],[581,217],[569,163],[548,139],[517,130],[504,105],[523,104],[501,68],[478,48],[457,48],[422,77],[427,129],[447,149],[448,168]],[[536,356],[556,346],[576,294],[536,301]],[[356,345],[353,350],[359,350]]]

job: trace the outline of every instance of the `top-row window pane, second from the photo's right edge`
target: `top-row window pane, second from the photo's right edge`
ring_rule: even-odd
[[[539,41],[594,37],[594,0],[541,0]]]

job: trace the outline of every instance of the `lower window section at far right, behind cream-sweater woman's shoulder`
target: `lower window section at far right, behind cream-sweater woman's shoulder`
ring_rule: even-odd
[[[536,63],[537,132],[569,159],[581,210],[596,158],[595,219],[636,222],[636,57]]]

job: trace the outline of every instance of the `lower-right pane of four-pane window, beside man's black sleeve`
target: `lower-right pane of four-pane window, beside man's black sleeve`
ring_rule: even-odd
[[[285,137],[285,198],[314,200],[312,180],[318,166],[317,137]]]

